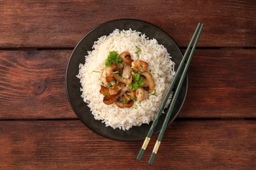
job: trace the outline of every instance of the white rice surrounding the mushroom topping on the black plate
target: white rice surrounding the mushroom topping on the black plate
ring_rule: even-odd
[[[103,103],[100,93],[100,76],[105,67],[105,60],[110,51],[116,50],[118,54],[128,51],[132,59],[138,60],[136,46],[142,50],[139,59],[149,63],[148,70],[156,83],[156,95],[150,95],[144,101],[135,101],[133,107],[120,109],[115,104]],[[132,126],[149,124],[160,107],[167,88],[175,75],[173,61],[167,49],[158,44],[156,39],[148,39],[138,31],[114,30],[110,35],[102,36],[93,45],[93,50],[85,56],[85,64],[79,65],[81,92],[83,101],[88,104],[96,120],[102,120],[106,126],[114,129],[128,130]]]

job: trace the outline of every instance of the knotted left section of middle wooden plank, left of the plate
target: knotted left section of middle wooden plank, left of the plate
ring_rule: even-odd
[[[0,52],[1,118],[74,118],[65,88],[71,50]]]

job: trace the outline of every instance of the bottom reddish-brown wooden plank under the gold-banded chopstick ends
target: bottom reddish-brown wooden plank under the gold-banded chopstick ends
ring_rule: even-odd
[[[253,169],[255,132],[255,120],[176,121],[150,166],[156,136],[137,161],[143,141],[105,139],[78,120],[1,121],[1,168]]]

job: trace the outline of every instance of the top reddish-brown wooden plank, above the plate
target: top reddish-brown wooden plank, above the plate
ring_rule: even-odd
[[[255,1],[2,1],[1,48],[74,47],[91,29],[119,18],[156,24],[187,46],[198,22],[198,46],[256,46]],[[152,12],[154,11],[154,12]]]

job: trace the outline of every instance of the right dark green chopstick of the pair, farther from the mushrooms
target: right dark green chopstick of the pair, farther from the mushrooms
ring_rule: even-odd
[[[160,143],[161,143],[161,140],[163,139],[163,134],[165,133],[165,129],[167,127],[167,124],[169,122],[169,118],[171,117],[171,113],[173,112],[173,108],[174,108],[174,105],[175,105],[175,102],[177,101],[177,97],[179,95],[179,92],[181,90],[181,86],[182,86],[182,83],[183,83],[183,80],[186,76],[186,72],[188,71],[188,67],[189,67],[189,64],[190,64],[190,61],[192,59],[192,56],[194,55],[194,51],[196,49],[196,45],[198,44],[198,40],[200,38],[200,35],[202,33],[202,30],[203,30],[203,24],[200,24],[200,30],[199,30],[199,33],[198,33],[198,36],[196,37],[196,41],[195,41],[195,44],[191,50],[191,53],[190,53],[190,56],[188,57],[188,61],[186,63],[186,66],[184,68],[184,71],[181,75],[181,80],[177,86],[177,90],[175,92],[175,94],[173,95],[173,100],[171,101],[171,105],[168,109],[168,112],[167,112],[167,116],[165,117],[165,120],[163,122],[163,126],[161,127],[161,131],[160,131],[160,134],[158,135],[158,140],[156,141],[156,144],[154,146],[154,149],[153,149],[153,152],[150,156],[150,160],[148,161],[148,163],[152,164],[153,161],[154,161],[154,158],[156,156],[156,153],[158,152],[158,148],[160,146]]]

